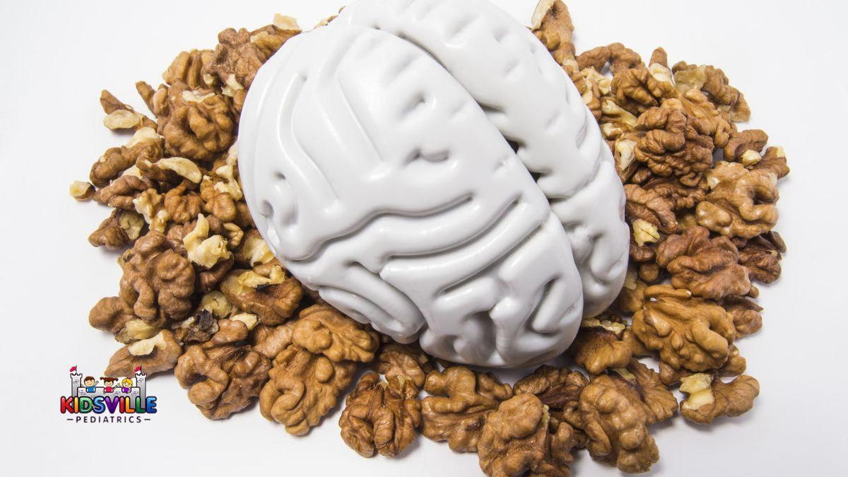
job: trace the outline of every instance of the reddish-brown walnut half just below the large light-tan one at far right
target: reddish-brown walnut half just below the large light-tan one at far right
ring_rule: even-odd
[[[710,231],[704,227],[669,235],[657,247],[656,263],[672,274],[672,286],[688,289],[693,295],[720,300],[750,290],[736,245],[727,237],[710,239]]]

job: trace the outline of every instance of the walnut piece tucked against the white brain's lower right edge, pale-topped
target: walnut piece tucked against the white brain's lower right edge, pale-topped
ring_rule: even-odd
[[[574,362],[589,374],[603,373],[607,368],[624,368],[630,362],[630,345],[620,340],[624,324],[605,319],[584,318],[577,337],[568,348]]]

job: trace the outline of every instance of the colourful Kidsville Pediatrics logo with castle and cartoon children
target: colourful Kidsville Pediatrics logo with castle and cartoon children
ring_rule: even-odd
[[[70,368],[70,396],[59,397],[59,412],[76,423],[129,424],[149,421],[156,413],[156,396],[147,395],[148,375],[84,376]],[[100,384],[100,385],[98,385]]]

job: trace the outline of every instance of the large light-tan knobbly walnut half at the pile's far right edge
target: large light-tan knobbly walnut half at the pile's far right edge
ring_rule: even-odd
[[[728,237],[751,239],[778,222],[777,176],[767,170],[745,169],[739,163],[719,162],[707,173],[710,194],[698,204],[698,223]]]

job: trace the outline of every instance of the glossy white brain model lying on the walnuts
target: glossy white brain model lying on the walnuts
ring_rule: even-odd
[[[290,272],[450,361],[547,361],[622,285],[609,149],[542,44],[483,0],[360,0],[289,40],[250,88],[239,163]]]

